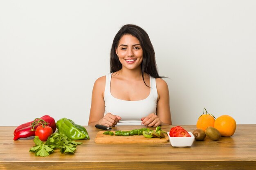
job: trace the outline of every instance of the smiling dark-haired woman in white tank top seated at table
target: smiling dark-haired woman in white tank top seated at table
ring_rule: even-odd
[[[168,85],[158,75],[153,45],[139,26],[122,26],[113,40],[110,74],[99,77],[92,90],[88,125],[95,124],[171,124]]]

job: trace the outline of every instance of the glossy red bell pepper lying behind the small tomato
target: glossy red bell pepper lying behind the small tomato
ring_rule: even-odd
[[[35,136],[36,128],[42,125],[42,123],[47,126],[50,126],[52,128],[53,133],[55,132],[56,123],[54,118],[50,117],[49,115],[44,115],[43,117],[36,118],[34,121],[30,121],[18,126],[13,132],[13,135],[14,135],[13,140],[16,141],[20,138]]]

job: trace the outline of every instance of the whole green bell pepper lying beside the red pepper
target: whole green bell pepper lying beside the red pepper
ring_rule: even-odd
[[[58,132],[65,134],[72,140],[90,139],[85,127],[75,124],[74,121],[62,118],[56,122]]]

